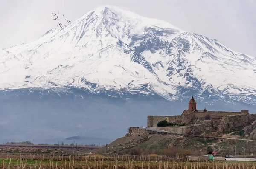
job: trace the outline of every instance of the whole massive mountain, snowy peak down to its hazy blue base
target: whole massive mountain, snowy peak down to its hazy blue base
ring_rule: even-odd
[[[199,110],[255,113],[255,73],[218,40],[102,6],[0,49],[0,142],[110,142],[147,115],[180,115],[193,94]]]

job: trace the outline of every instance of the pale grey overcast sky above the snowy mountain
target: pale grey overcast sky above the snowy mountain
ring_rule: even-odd
[[[126,7],[256,56],[256,0],[0,0],[0,48],[56,27],[52,12],[73,21],[102,5]]]

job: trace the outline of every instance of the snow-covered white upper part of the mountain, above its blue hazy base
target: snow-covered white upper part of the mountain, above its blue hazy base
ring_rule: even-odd
[[[256,91],[256,58],[113,6],[0,49],[0,56],[0,89],[76,87],[156,93],[169,100],[195,90],[255,101],[247,97]]]

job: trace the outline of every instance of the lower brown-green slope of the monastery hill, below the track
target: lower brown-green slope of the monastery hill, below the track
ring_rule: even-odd
[[[256,141],[231,138],[195,138],[163,134],[127,135],[118,138],[108,144],[107,153],[163,153],[168,149],[176,152],[182,149],[192,152],[194,149],[194,153],[207,154],[207,148],[211,147],[213,151],[218,153],[222,151],[232,155],[235,154],[235,146],[237,155],[243,155],[244,149],[242,147],[246,149],[247,153],[256,153]],[[105,149],[98,150],[98,152],[105,152]]]

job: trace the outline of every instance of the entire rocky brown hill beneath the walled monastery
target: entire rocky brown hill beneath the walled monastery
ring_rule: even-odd
[[[256,153],[256,114],[226,116],[220,121],[204,121],[200,125],[189,127],[184,134],[164,133],[131,128],[125,137],[118,138],[108,145],[111,153],[129,153],[140,149],[140,152],[158,152],[172,149],[194,150],[206,153],[207,148],[227,154],[242,153],[243,148]],[[197,135],[196,135],[197,134]],[[247,152],[247,153],[248,153]]]

